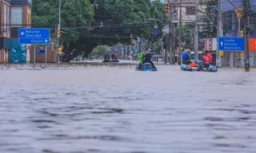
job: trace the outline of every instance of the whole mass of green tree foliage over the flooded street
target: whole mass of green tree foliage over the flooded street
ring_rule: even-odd
[[[93,1],[94,2],[94,1]],[[131,44],[137,36],[157,41],[152,35],[155,26],[162,23],[150,21],[155,18],[165,21],[166,14],[160,0],[62,0],[62,39],[65,61],[84,54],[88,55],[97,45],[115,45],[118,42]],[[58,23],[58,0],[34,0],[32,9],[33,27],[54,29]]]

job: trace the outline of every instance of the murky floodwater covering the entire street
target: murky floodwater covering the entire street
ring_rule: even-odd
[[[254,153],[256,70],[0,70],[0,152]]]

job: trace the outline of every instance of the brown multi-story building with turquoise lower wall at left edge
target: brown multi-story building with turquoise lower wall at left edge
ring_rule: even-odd
[[[31,27],[32,0],[0,0],[0,63],[26,63],[29,50],[18,44],[18,28]]]

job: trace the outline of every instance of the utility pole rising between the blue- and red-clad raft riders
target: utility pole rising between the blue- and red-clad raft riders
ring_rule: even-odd
[[[195,0],[195,8],[198,8],[198,0]],[[194,57],[198,60],[198,11],[195,10],[195,27],[194,27]]]

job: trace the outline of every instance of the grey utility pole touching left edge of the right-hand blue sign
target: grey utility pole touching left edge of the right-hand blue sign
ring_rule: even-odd
[[[218,0],[218,33],[217,37],[222,37],[223,35],[223,25],[222,25],[222,0]],[[218,43],[217,43],[218,45]],[[217,52],[216,52],[216,66],[222,67],[222,55],[221,50],[218,49],[217,46]]]

